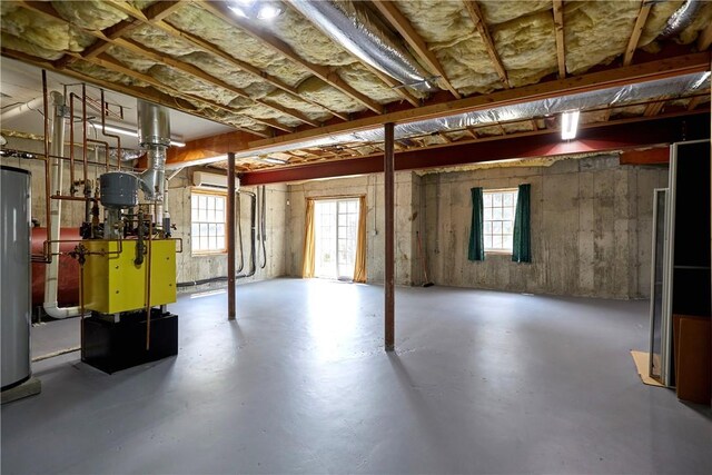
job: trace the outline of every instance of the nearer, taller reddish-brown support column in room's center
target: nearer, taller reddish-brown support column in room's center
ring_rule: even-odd
[[[385,123],[385,155],[384,155],[384,205],[386,219],[386,261],[385,261],[385,325],[386,352],[395,349],[395,160],[393,155],[393,122]]]

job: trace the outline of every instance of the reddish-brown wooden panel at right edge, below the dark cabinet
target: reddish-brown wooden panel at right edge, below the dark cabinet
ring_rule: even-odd
[[[675,348],[678,398],[696,404],[710,404],[712,397],[710,362],[710,319],[681,317],[679,346]]]

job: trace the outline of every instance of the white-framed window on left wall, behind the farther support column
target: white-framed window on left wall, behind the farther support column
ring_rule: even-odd
[[[225,253],[225,194],[191,191],[190,246],[192,254]]]

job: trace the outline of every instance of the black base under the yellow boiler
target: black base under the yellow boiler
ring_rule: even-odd
[[[178,354],[178,316],[151,309],[150,345],[146,349],[146,311],[121,314],[118,323],[92,316],[83,320],[81,360],[116,373]]]

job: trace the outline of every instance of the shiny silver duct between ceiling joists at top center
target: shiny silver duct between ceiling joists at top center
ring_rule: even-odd
[[[347,51],[418,91],[436,89],[426,72],[395,40],[387,38],[378,20],[350,1],[290,0],[303,16]]]

